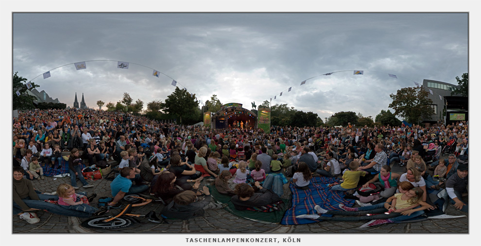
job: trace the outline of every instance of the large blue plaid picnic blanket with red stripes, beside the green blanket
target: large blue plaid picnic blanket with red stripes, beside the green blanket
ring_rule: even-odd
[[[292,192],[292,207],[284,213],[281,220],[282,225],[299,225],[316,223],[322,220],[312,220],[306,218],[296,218],[300,214],[314,214],[315,205],[319,205],[326,210],[341,210],[339,204],[344,204],[348,207],[354,205],[354,200],[344,199],[344,192],[332,191],[328,184],[334,183],[338,180],[327,177],[313,177],[310,180],[309,190],[299,190],[293,184],[289,185]],[[323,216],[332,216],[331,214],[324,214]]]

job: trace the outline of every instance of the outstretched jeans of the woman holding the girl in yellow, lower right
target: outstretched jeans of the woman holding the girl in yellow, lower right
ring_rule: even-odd
[[[417,208],[419,208],[418,206]],[[424,213],[424,211],[416,211],[414,213],[411,213],[411,215],[401,215],[401,213],[390,213],[390,214],[385,214],[385,212],[388,212],[387,209],[384,208],[384,203],[379,203],[376,205],[371,205],[371,206],[366,206],[366,207],[361,207],[358,208],[358,211],[355,212],[349,212],[349,211],[336,211],[336,210],[329,210],[327,211],[326,214],[340,214],[340,215],[362,215],[362,214],[368,214],[368,213],[374,213],[375,215],[364,215],[364,216],[359,216],[359,217],[325,217],[322,216],[318,219],[322,220],[333,220],[333,221],[361,221],[361,220],[373,220],[373,219],[389,219],[393,222],[397,221],[403,221],[407,220],[410,218],[417,217],[421,214]],[[379,214],[376,214],[379,213]]]

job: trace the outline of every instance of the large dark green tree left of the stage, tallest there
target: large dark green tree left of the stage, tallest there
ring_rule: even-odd
[[[190,96],[187,90],[175,87],[174,92],[165,99],[164,112],[169,115],[175,115],[179,121],[178,124],[195,124],[199,119],[199,102]]]

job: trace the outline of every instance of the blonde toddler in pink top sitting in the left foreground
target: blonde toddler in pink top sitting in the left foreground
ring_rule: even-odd
[[[57,188],[58,205],[66,209],[77,210],[96,216],[108,212],[107,208],[103,206],[95,208],[82,202],[80,198],[85,197],[86,193],[81,193],[83,194],[75,194],[75,189],[69,184],[60,184]]]

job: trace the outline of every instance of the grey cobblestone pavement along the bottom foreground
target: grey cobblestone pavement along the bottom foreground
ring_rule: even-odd
[[[53,192],[61,183],[70,183],[69,177],[45,180],[34,180],[34,187],[42,192]],[[78,191],[96,192],[97,198],[92,202],[97,205],[99,197],[110,196],[109,180],[88,180],[94,188],[81,188]],[[80,184],[80,182],[79,182]],[[287,184],[285,197],[289,197]],[[290,193],[290,192],[289,192]],[[156,211],[157,214],[164,205],[160,202],[135,208],[134,212],[146,214]],[[467,215],[448,206],[447,213],[451,215]],[[203,218],[193,218],[186,221],[168,220],[170,224],[154,224],[146,219],[140,220],[127,228],[121,229],[87,229],[80,225],[85,218],[60,216],[53,213],[38,211],[40,222],[28,224],[18,215],[13,215],[13,233],[468,233],[468,217],[455,219],[426,220],[413,223],[385,224],[374,228],[358,228],[362,222],[318,222],[306,225],[284,226],[280,224],[260,223],[237,217],[225,210],[209,210]]]

